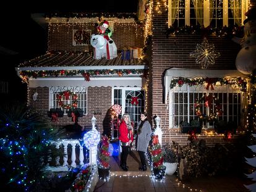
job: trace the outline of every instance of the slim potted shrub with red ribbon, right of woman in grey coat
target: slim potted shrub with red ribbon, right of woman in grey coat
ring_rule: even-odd
[[[158,139],[153,136],[153,146],[151,148],[150,154],[153,161],[153,175],[156,179],[161,180],[164,177],[166,167],[163,165],[163,155],[164,152],[161,149],[161,144],[158,143]]]

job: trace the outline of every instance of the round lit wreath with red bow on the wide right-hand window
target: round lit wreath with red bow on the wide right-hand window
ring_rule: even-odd
[[[209,115],[202,114],[202,111],[200,109],[200,104],[204,103],[205,107],[211,106],[211,103],[213,102],[213,112],[210,112]],[[213,121],[218,118],[218,116],[222,115],[223,111],[221,109],[220,101],[218,101],[218,98],[216,98],[213,94],[209,94],[208,96],[205,94],[202,96],[202,98],[198,99],[197,102],[195,102],[195,114],[200,119],[206,119],[208,121]]]

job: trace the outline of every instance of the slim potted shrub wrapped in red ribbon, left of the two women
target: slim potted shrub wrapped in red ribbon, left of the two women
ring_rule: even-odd
[[[107,179],[109,178],[109,142],[108,136],[103,136],[100,141],[100,152],[99,152],[99,163],[98,163],[98,173],[99,178]]]

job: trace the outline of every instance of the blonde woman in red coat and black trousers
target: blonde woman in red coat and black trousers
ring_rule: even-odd
[[[127,171],[126,160],[129,154],[130,144],[134,141],[134,128],[130,123],[129,114],[122,115],[122,122],[119,125],[119,140],[122,146],[120,166],[122,170]]]

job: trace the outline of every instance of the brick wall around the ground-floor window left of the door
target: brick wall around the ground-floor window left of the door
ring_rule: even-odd
[[[38,98],[33,101],[32,95],[37,92]],[[92,125],[91,119],[93,117],[93,111],[95,109],[100,111],[101,114],[96,114],[96,123],[99,127],[101,135],[103,133],[109,133],[110,131],[110,114],[108,113],[111,107],[111,94],[112,88],[97,88],[88,87],[87,89],[87,115],[79,117],[79,125],[82,127],[85,125]],[[29,103],[36,113],[40,114],[41,120],[43,122],[49,123],[53,126],[62,127],[64,125],[72,125],[74,122],[71,121],[71,117],[59,117],[59,122],[51,122],[51,118],[47,116],[47,111],[49,111],[49,88],[30,88],[29,91]],[[103,128],[104,127],[104,128]]]

